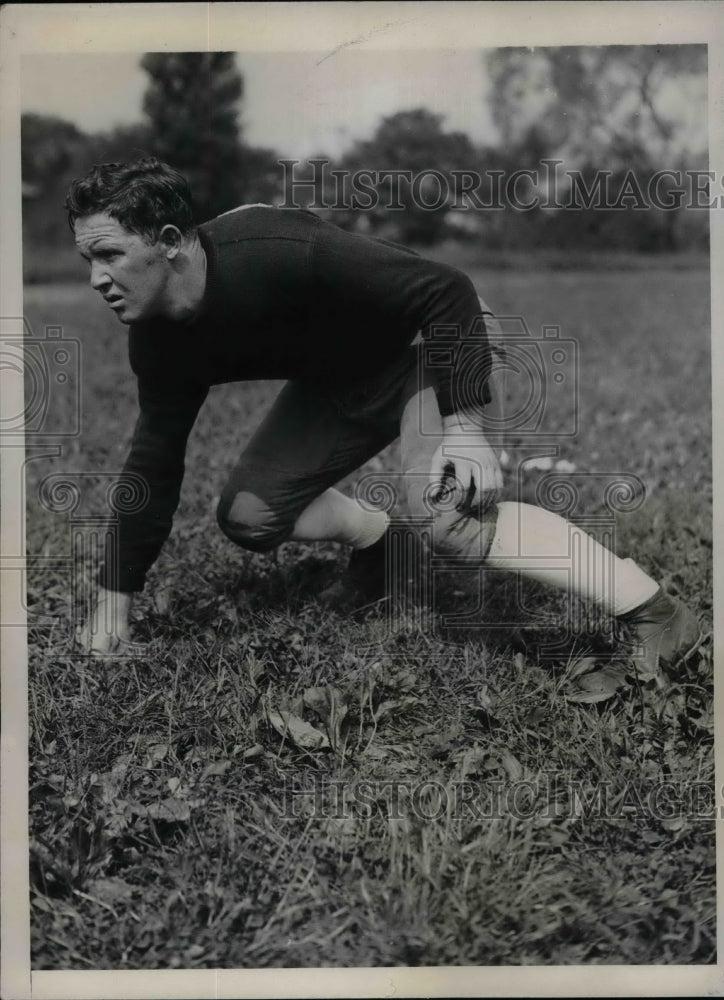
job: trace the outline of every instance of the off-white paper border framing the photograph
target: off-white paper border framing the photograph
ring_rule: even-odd
[[[329,51],[495,48],[509,45],[703,43],[709,51],[710,167],[724,170],[724,8],[712,2],[359,2],[8,4],[0,12],[0,301],[23,315],[20,217],[20,58],[29,52]],[[152,44],[151,44],[152,40]],[[724,211],[711,213],[714,482],[724,482]],[[22,412],[22,377],[3,372],[0,416]],[[18,402],[20,401],[19,407]],[[15,484],[22,447],[0,448],[2,553],[24,553]],[[723,655],[724,501],[714,495],[715,664]],[[22,607],[22,574],[3,563],[0,607]],[[17,618],[13,618],[14,621]],[[0,631],[2,654],[2,982],[0,995],[25,998],[222,998],[311,996],[666,996],[724,995],[724,921],[716,966],[531,968],[256,969],[32,972],[30,970],[27,788],[27,641],[24,628]],[[724,692],[716,685],[717,809],[724,781]],[[722,829],[717,824],[717,858]],[[720,864],[720,872],[722,866]],[[721,877],[719,878],[721,914]]]

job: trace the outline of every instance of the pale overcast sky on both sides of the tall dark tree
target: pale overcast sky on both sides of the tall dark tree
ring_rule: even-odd
[[[24,111],[58,115],[85,131],[141,119],[148,80],[138,54],[27,55]],[[474,141],[495,137],[488,83],[477,50],[249,53],[244,75],[244,136],[284,156],[332,155],[367,137],[384,115],[424,106]]]

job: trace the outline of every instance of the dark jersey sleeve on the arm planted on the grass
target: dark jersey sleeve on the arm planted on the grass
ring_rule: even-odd
[[[188,436],[206,395],[206,389],[159,393],[139,383],[141,412],[116,488],[116,496],[132,499],[118,505],[115,538],[106,544],[98,578],[106,590],[143,589],[171,531]]]

